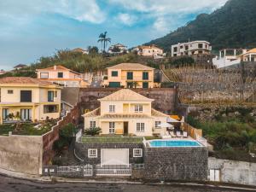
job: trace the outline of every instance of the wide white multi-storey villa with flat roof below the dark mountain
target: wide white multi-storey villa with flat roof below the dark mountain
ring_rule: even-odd
[[[172,45],[172,57],[182,55],[210,54],[212,46],[207,41],[192,41]]]

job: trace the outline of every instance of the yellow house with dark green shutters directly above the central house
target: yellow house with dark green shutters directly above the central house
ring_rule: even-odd
[[[103,85],[124,88],[153,88],[154,68],[140,63],[120,63],[108,67],[108,79]]]

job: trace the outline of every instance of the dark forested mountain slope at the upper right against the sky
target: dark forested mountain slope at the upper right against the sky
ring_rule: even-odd
[[[212,14],[198,15],[186,26],[147,44],[170,50],[172,44],[207,40],[212,49],[256,47],[256,1],[230,0]]]

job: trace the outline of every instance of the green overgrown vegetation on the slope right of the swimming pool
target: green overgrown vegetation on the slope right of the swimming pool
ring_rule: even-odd
[[[188,122],[203,130],[217,157],[256,161],[251,155],[256,154],[256,120],[252,110],[227,108],[216,114],[212,121],[199,120],[196,113],[190,113]]]

